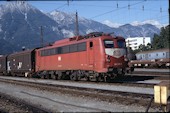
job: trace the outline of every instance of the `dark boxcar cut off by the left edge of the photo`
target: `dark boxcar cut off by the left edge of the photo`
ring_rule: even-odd
[[[1,56],[0,57],[0,74],[6,74],[6,69],[7,69],[7,56]]]

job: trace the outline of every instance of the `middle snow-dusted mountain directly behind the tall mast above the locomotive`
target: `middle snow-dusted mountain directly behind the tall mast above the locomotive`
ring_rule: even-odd
[[[68,14],[55,10],[51,13],[48,13],[47,15],[59,24],[58,27],[63,32],[65,37],[74,36],[76,25],[75,14]],[[78,24],[79,34],[81,35],[96,31],[113,32],[111,27],[83,17],[78,18]]]

